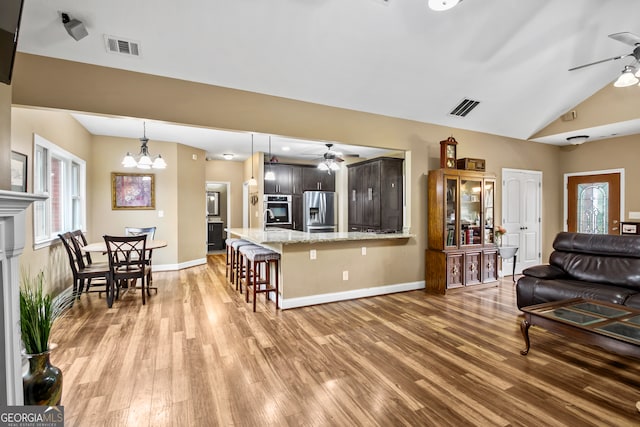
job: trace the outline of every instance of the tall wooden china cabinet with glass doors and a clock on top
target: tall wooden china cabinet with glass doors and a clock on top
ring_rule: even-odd
[[[497,280],[494,243],[495,176],[438,169],[428,178],[427,291]]]

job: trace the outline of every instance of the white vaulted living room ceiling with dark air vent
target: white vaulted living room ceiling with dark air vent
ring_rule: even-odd
[[[61,12],[89,35],[71,38]],[[25,0],[18,50],[530,139],[633,63],[568,71],[633,50],[607,35],[640,34],[638,16],[637,0]],[[479,103],[449,114],[465,99]]]

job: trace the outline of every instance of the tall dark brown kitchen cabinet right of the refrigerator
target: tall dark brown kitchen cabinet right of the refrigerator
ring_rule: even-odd
[[[348,166],[349,231],[401,231],[403,159],[378,158]]]

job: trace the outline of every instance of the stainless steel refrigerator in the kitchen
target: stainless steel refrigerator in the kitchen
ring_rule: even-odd
[[[336,194],[332,191],[305,191],[302,202],[302,230],[309,233],[336,231]]]

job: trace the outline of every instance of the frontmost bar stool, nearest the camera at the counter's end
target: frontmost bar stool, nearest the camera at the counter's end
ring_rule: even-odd
[[[280,254],[271,249],[244,246],[240,249],[246,259],[246,289],[245,301],[249,302],[249,287],[253,289],[253,311],[256,311],[256,295],[266,294],[269,301],[269,292],[276,293],[276,311],[278,311],[278,270],[280,266]],[[271,265],[275,266],[275,283],[271,283]],[[260,273],[264,268],[263,274]]]

